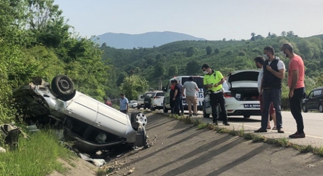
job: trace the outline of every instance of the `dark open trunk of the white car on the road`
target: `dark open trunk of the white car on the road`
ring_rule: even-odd
[[[232,97],[236,98],[239,101],[258,101],[258,87],[257,86],[250,86],[251,82],[256,83],[258,81],[259,72],[257,71],[244,71],[240,73],[236,73],[229,76],[228,82],[230,84],[230,91]],[[250,82],[244,83],[244,86],[237,86],[234,87],[236,82]]]

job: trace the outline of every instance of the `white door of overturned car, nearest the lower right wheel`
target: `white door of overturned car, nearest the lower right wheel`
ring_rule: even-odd
[[[127,124],[126,114],[98,103],[98,113],[94,127],[118,136],[124,136],[127,131]]]

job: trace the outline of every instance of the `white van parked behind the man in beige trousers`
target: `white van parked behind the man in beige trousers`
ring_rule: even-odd
[[[170,92],[171,92],[171,81],[176,79],[178,81],[178,83],[180,84],[184,84],[186,81],[188,81],[188,78],[190,76],[176,76],[172,79],[170,79],[168,81],[168,84],[166,87],[163,87],[163,91],[165,92],[165,97],[164,97],[164,113],[167,113],[169,110],[171,110],[171,106],[170,106]],[[197,96],[197,111],[203,111],[203,100],[204,100],[204,95],[203,95],[203,76],[192,76],[193,77],[193,81],[196,82],[199,91],[196,93]],[[184,90],[184,95],[186,90]],[[184,106],[184,110],[188,110],[188,106],[187,106],[187,101],[186,98],[183,97],[183,106]],[[192,109],[193,110],[193,109]]]

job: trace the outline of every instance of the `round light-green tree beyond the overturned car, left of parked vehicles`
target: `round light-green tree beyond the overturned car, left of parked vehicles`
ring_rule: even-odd
[[[131,75],[125,77],[120,89],[128,100],[135,100],[138,98],[139,94],[145,92],[148,87],[148,81],[145,78],[141,78],[139,75]]]

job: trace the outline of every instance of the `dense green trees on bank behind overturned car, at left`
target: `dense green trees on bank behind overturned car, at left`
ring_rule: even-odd
[[[41,76],[72,78],[99,101],[108,92],[111,65],[90,39],[79,38],[53,0],[0,0],[0,122],[15,115],[12,91]]]

